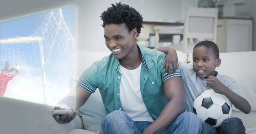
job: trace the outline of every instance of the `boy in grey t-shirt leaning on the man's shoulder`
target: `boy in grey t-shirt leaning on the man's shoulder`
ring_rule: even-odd
[[[157,50],[169,55],[166,56],[164,68],[166,65],[168,66],[169,60],[177,58],[174,49],[160,47]],[[236,108],[249,114],[251,106],[245,98],[241,97],[241,90],[236,81],[215,71],[215,68],[219,67],[220,64],[218,46],[211,41],[202,41],[195,45],[193,48],[193,65],[179,63],[187,97],[186,110],[192,112],[195,98],[207,89],[214,89],[222,92]],[[168,71],[166,70],[166,72]],[[202,123],[201,134],[245,134],[245,128],[239,118],[231,117],[224,120],[217,129],[208,123]]]

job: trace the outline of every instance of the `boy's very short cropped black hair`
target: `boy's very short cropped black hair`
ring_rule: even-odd
[[[205,40],[205,41],[199,42],[195,45],[195,47],[193,49],[195,49],[197,47],[206,47],[208,49],[212,49],[212,51],[215,55],[215,59],[220,58],[220,52],[219,52],[218,46],[212,41]]]

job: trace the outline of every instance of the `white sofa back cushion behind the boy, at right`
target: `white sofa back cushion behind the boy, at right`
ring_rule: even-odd
[[[220,53],[221,65],[216,71],[233,78],[241,88],[244,98],[256,111],[256,51]],[[189,54],[188,62],[192,63],[192,53]],[[233,107],[233,110],[239,111]]]

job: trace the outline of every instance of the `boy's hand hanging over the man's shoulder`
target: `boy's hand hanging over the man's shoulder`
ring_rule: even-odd
[[[177,57],[176,50],[168,50],[166,59],[163,64],[163,70],[166,71],[166,74],[171,74],[172,72],[172,66],[173,66],[173,73],[176,73],[176,69],[179,69],[179,61]]]

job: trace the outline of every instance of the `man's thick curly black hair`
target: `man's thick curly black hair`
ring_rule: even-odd
[[[143,17],[141,14],[126,4],[116,3],[116,5],[111,5],[112,7],[108,7],[100,16],[101,20],[103,20],[103,28],[109,24],[120,25],[124,23],[129,32],[136,28],[139,36],[143,27]]]

